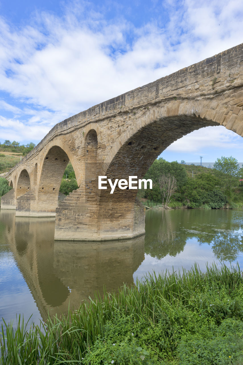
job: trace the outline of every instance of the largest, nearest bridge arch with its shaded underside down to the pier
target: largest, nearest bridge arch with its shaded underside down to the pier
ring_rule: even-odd
[[[129,180],[129,176],[143,178],[153,161],[171,143],[203,127],[224,125],[243,135],[242,128],[237,127],[238,115],[233,115],[231,121],[226,119],[229,110],[221,102],[208,100],[207,108],[200,100],[190,101],[189,104],[188,100],[172,100],[162,107],[154,105],[154,108],[140,115],[140,119],[136,123],[134,121],[132,127],[115,142],[103,164],[102,175],[113,181],[115,178]],[[210,115],[212,119],[206,118]],[[122,190],[117,186],[110,194],[111,188],[107,184],[107,189],[99,194],[99,215],[111,216],[115,212],[129,222],[134,214],[137,191]]]

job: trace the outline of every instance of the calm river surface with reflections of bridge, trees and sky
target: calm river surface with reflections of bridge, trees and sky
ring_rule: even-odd
[[[54,225],[0,211],[0,324],[16,314],[37,323],[148,272],[213,261],[243,269],[243,210],[149,210],[145,236],[119,242],[54,241]]]

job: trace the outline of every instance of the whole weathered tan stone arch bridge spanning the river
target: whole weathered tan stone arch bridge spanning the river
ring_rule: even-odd
[[[110,194],[109,185],[98,189],[98,176],[142,178],[172,142],[218,125],[243,136],[243,44],[56,124],[5,176],[13,189],[1,209],[56,216],[59,240],[136,237],[145,226],[137,191]],[[68,161],[79,188],[58,206]]]

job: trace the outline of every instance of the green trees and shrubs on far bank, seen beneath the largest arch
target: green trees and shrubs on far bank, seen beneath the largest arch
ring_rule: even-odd
[[[159,158],[145,175],[146,179],[152,179],[153,189],[142,189],[138,196],[147,199],[144,202],[147,206],[161,204],[164,208],[239,208],[243,206],[242,177],[243,168],[239,168],[233,157],[218,158],[213,169]],[[161,184],[161,180],[164,184]]]

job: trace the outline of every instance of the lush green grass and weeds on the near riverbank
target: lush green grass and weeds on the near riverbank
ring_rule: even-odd
[[[239,266],[195,265],[97,295],[42,330],[2,327],[0,363],[243,364],[242,319]]]

